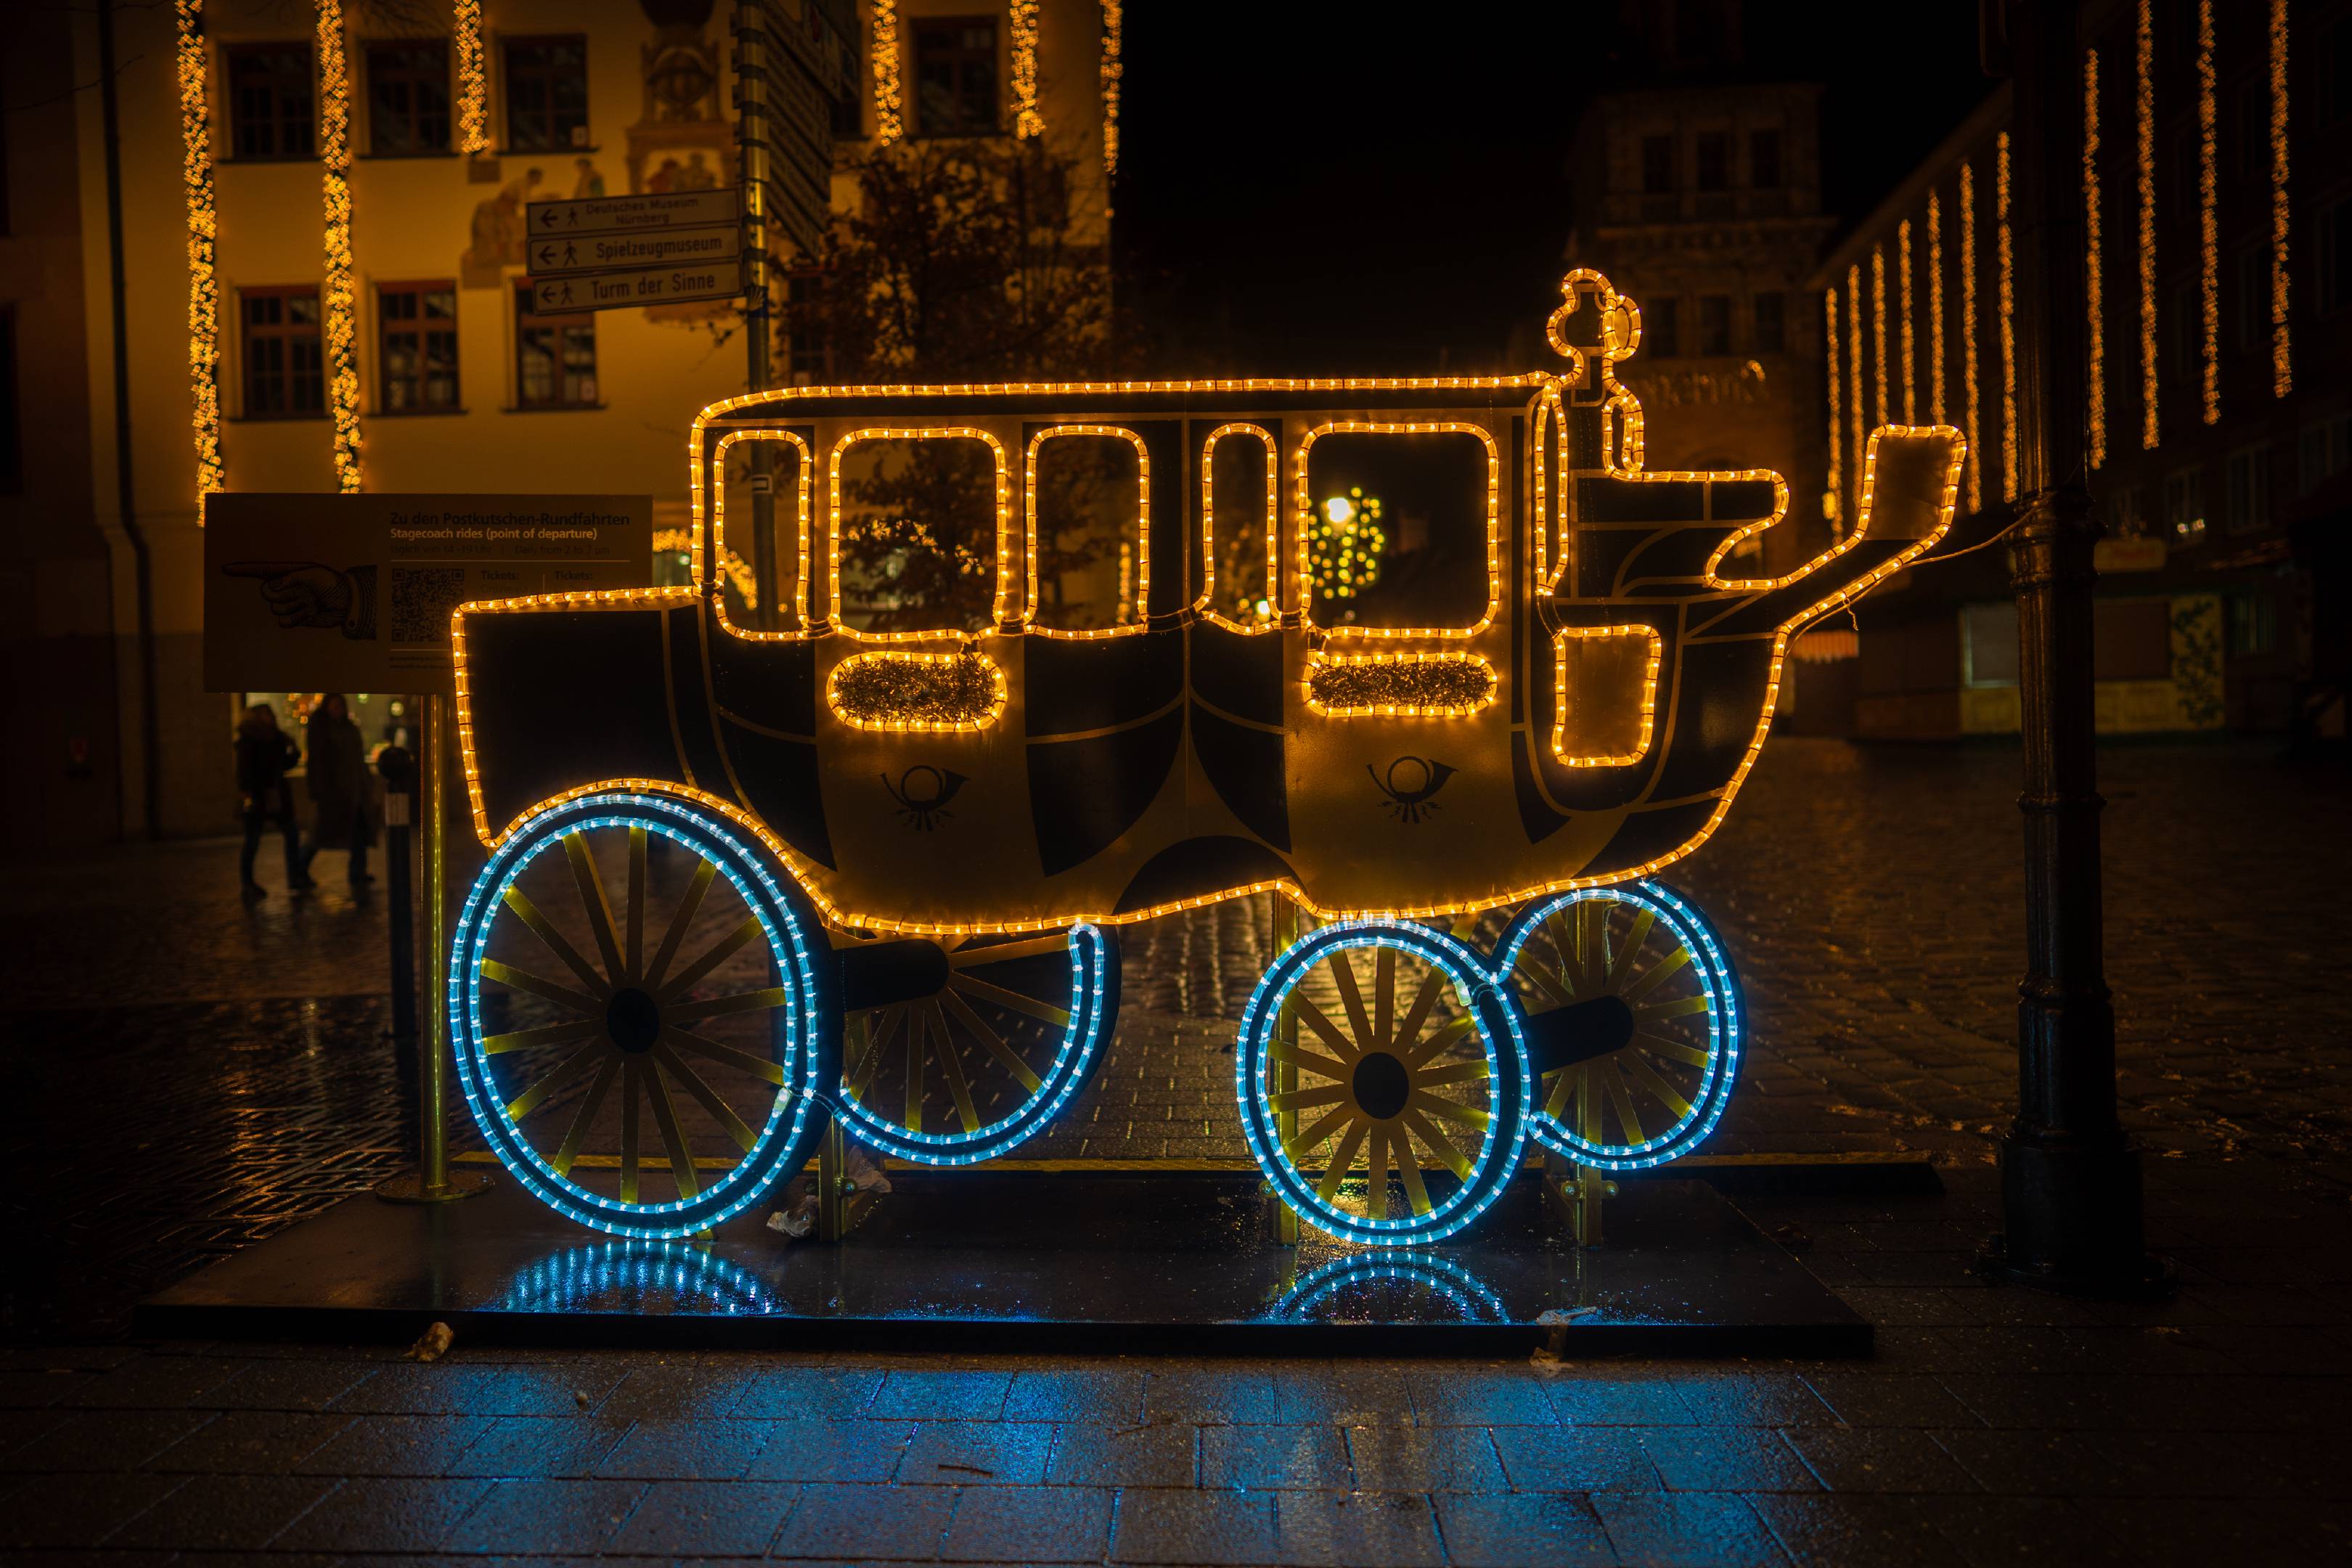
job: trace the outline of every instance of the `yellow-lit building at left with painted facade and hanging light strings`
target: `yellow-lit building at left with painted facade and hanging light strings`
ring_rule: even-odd
[[[835,209],[889,139],[1018,129],[1068,150],[1068,228],[1101,254],[1115,2],[807,2],[854,24]],[[682,548],[687,428],[748,386],[741,310],[541,315],[524,209],[736,186],[727,0],[7,12],[12,846],[228,830],[233,703],[306,701],[202,691],[209,489],[652,494]],[[779,343],[771,378],[823,362]],[[360,703],[372,741],[395,705]]]

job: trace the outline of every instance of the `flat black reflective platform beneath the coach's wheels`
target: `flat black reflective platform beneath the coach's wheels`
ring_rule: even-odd
[[[797,1349],[1858,1356],[1870,1324],[1712,1187],[1625,1182],[1578,1251],[1522,1175],[1463,1237],[1279,1246],[1242,1175],[891,1173],[842,1244],[746,1213],[710,1239],[621,1241],[515,1187],[437,1206],[348,1199],[139,1305],[153,1338]]]

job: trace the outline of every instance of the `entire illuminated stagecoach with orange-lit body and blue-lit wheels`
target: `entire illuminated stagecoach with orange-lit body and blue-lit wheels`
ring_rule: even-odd
[[[1966,202],[1962,212],[1966,230]],[[1858,303],[1851,280],[1844,303]],[[1849,331],[1858,315],[1846,310]],[[788,1117],[776,1140],[802,1152],[826,1114],[903,1159],[974,1164],[1009,1152],[1068,1107],[1103,1056],[1117,1011],[1115,929],[1265,891],[1331,922],[1261,980],[1235,1070],[1249,1147],[1310,1222],[1383,1246],[1454,1234],[1517,1168],[1522,1135],[1588,1166],[1618,1161],[1606,1168],[1686,1152],[1722,1114],[1743,1016],[1719,938],[1649,879],[1700,849],[1729,813],[1769,733],[1790,639],[1945,536],[1966,442],[1950,425],[1882,425],[1865,437],[1860,388],[1849,383],[1860,444],[1846,470],[1846,527],[1792,571],[1724,576],[1731,550],[1785,517],[1785,482],[1764,468],[1642,468],[1642,404],[1616,378],[1639,343],[1639,308],[1597,273],[1564,282],[1548,339],[1566,357],[1562,374],[786,388],[703,409],[689,437],[691,588],[527,595],[452,618],[459,757],[475,832],[492,849],[452,952],[452,1027],[480,1056],[468,1107],[501,1159],[572,1218],[659,1237],[741,1208],[750,1199],[739,1185],[753,1178],[736,1173],[771,1154],[774,1140],[753,1140],[708,1190],[689,1161],[696,1192],[616,1204],[567,1185],[508,1117],[517,1098],[501,1100],[494,1053],[480,1051],[485,987],[508,985],[487,969],[496,954],[485,931],[503,922],[513,877],[550,842],[621,830],[689,844],[710,877],[734,867],[724,886],[767,912],[760,936],[779,973],[797,976],[779,987],[779,1009],[797,1011],[779,1034],[790,1093],[776,1100],[795,1110],[771,1105],[767,1117]],[[1858,360],[1844,369],[1858,374]],[[1136,444],[1129,625],[1073,635],[1035,625],[1035,468],[1056,435]],[[1489,597],[1472,625],[1315,625],[1310,520],[1329,512],[1308,487],[1308,454],[1327,435],[1458,435],[1484,447]],[[739,440],[788,440],[800,456],[795,630],[748,632],[724,618],[724,545],[703,529],[724,529],[724,461]],[[844,454],[866,440],[985,444],[995,597],[983,630],[837,623]],[[1270,614],[1256,625],[1216,611],[1218,440],[1256,440],[1268,463]],[[1150,487],[1150,449],[1200,456],[1197,503],[1190,475],[1162,473]],[[823,451],[821,487],[811,451]],[[969,477],[978,489],[978,463]],[[1256,498],[1249,512],[1256,520]],[[969,555],[976,569],[990,559]],[[1152,616],[1150,581],[1200,590]],[[1225,602],[1254,585],[1230,588],[1240,595]],[[936,646],[903,646],[910,639]],[[1700,639],[1705,658],[1686,658]],[[637,665],[623,644],[642,651]],[[574,668],[607,675],[564,686]],[[576,748],[553,743],[562,731],[529,712],[550,693]],[[1755,726],[1726,726],[1731,708],[1752,710]],[[517,733],[539,736],[527,755]],[[941,790],[910,790],[917,776]],[[1383,783],[1399,776],[1423,780],[1409,802]],[[588,858],[583,849],[576,875]],[[1494,907],[1522,907],[1494,957],[1409,924]],[[1590,973],[1555,964],[1545,980],[1541,943],[1552,938],[1529,919],[1578,931],[1590,922]],[[1672,940],[1656,950],[1653,938]],[[1327,994],[1308,987],[1310,971],[1315,985],[1329,976],[1341,1001],[1355,997],[1355,961],[1371,966],[1376,1004],[1350,1009],[1352,1044],[1317,1039],[1359,1063],[1399,1060],[1362,1081],[1348,1067],[1305,1091],[1324,1107],[1352,1105],[1362,1124],[1345,1159],[1308,1175],[1301,1166],[1317,1166],[1298,1143],[1298,1088],[1287,1079],[1324,1070],[1301,1067],[1275,1023],[1284,1009],[1305,1018]],[[1458,1004],[1425,1039],[1428,1013],[1397,1023],[1399,964],[1428,969]],[[1562,1018],[1550,992],[1526,990],[1545,985],[1602,1006]],[[1670,990],[1644,1001],[1644,985]],[[969,1025],[957,997],[1021,1013],[1021,1044],[985,1020],[950,1039],[950,1027]],[[1656,1046],[1665,1056],[1653,1077],[1639,1056],[1611,1063],[1630,1077],[1599,1065],[1564,1077],[1613,1051],[1653,1048],[1595,1032],[1606,999],[1628,1016],[1663,999],[1658,1018],[1682,1020]],[[856,1060],[844,1060],[842,1037]],[[868,1077],[882,1046],[908,1053],[903,1117],[884,1103],[887,1072]],[[934,1060],[936,1072],[924,1065]],[[964,1081],[967,1067],[995,1074],[988,1093]],[[1569,1077],[1585,1086],[1573,1124],[1564,1100],[1536,1103],[1545,1081],[1555,1098],[1566,1093]],[[1590,1086],[1604,1084],[1616,1088],[1595,1100],[1602,1091]],[[927,1110],[950,1088],[953,1124]],[[1477,1128],[1475,1157],[1411,1126],[1414,1095],[1435,1088],[1449,1103],[1435,1114]],[[1639,1110],[1642,1095],[1668,1112]],[[1621,1133],[1595,1131],[1606,1110]],[[1367,1161],[1352,1166],[1359,1152]],[[1390,1173],[1409,1213],[1390,1213]],[[1378,1187],[1374,1201],[1359,1204],[1352,1182]]]

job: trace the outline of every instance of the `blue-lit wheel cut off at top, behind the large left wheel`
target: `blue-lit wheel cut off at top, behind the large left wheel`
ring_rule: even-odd
[[[906,952],[913,950],[913,957]],[[875,954],[880,1006],[849,1004],[840,1114],[898,1159],[964,1166],[1044,1128],[1103,1058],[1120,947],[1098,926],[844,945]]]

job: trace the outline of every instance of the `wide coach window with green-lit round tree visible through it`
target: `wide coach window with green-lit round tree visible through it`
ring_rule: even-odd
[[[1322,628],[1468,630],[1494,614],[1494,449],[1477,430],[1310,435],[1308,618]]]

